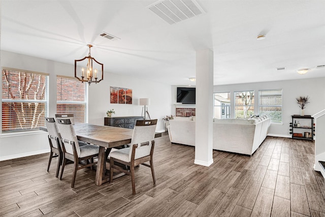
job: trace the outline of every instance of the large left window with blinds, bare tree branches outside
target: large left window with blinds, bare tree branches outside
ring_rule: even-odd
[[[3,68],[2,132],[39,129],[48,113],[48,74]]]

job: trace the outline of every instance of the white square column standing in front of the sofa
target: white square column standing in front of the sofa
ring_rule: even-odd
[[[196,56],[196,139],[194,164],[213,163],[213,51],[197,51]]]

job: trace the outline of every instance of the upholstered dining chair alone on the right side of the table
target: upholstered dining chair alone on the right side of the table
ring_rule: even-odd
[[[156,183],[153,169],[153,149],[156,125],[157,119],[137,120],[132,134],[131,146],[110,153],[110,182],[113,182],[113,169],[131,175],[133,195],[136,194],[135,166],[142,164],[150,167],[153,183]],[[145,164],[145,162],[148,161],[149,165]],[[129,171],[115,165],[115,162],[127,166]]]

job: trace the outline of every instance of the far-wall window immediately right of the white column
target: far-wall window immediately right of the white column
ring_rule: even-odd
[[[214,99],[214,118],[230,118],[230,92],[215,92]]]

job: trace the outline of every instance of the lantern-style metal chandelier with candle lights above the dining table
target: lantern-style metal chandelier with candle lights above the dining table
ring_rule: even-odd
[[[101,64],[95,58],[91,57],[90,48],[92,47],[92,45],[88,44],[87,46],[89,47],[88,56],[85,56],[82,59],[76,59],[75,60],[75,78],[77,78],[82,83],[84,81],[88,82],[89,85],[90,85],[91,83],[99,83],[101,80],[103,80],[103,78],[104,78],[104,73],[103,73],[104,72],[104,64]],[[86,60],[87,64],[84,65],[86,67],[81,68],[81,78],[80,78],[80,77],[77,76],[77,62],[78,61],[82,62],[85,59],[87,59]],[[83,61],[83,62],[85,62],[85,61]],[[80,68],[80,67],[78,67],[78,68]],[[100,71],[98,71],[98,69],[100,69]],[[102,74],[101,79],[99,79],[98,73]],[[93,80],[93,78],[94,78],[94,80]]]

